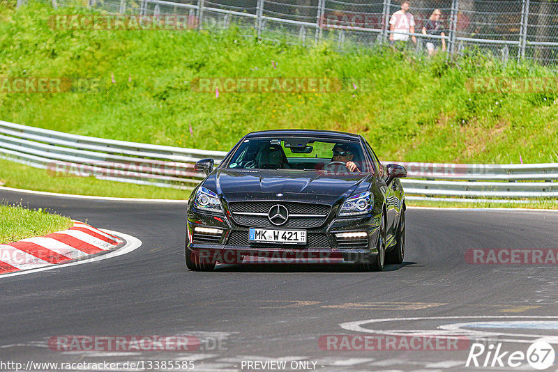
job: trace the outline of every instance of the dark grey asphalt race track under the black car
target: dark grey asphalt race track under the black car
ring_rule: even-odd
[[[214,272],[188,272],[186,203],[8,191],[0,191],[0,199],[50,208],[143,243],[105,261],[0,277],[0,367],[151,361],[151,369],[163,370],[153,362],[193,360],[194,371],[272,371],[248,369],[246,362],[282,359],[315,362],[317,371],[491,369],[465,367],[469,349],[337,351],[318,343],[324,335],[436,334],[448,327],[489,330],[486,343],[501,340],[506,350],[523,352],[545,336],[558,351],[558,265],[465,260],[473,248],[557,249],[557,212],[410,208],[405,263],[384,272],[357,272],[347,264],[221,265]],[[48,348],[48,340],[60,335],[190,335],[202,345],[193,352]],[[287,363],[283,370],[312,370],[308,366],[289,369]],[[557,368],[555,362],[548,371]],[[6,364],[0,369],[10,370]],[[532,369],[524,363],[517,370]]]

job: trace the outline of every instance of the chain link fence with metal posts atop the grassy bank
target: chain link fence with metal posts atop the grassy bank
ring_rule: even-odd
[[[24,3],[26,0],[17,0]],[[75,0],[50,0],[63,6]],[[389,42],[390,20],[401,0],[84,0],[91,8],[125,15],[182,15],[199,29],[236,25],[245,36],[296,45],[329,40],[340,50]],[[446,43],[450,54],[481,49],[501,59],[529,59],[543,65],[558,62],[558,0],[412,0],[416,44]],[[423,27],[439,10],[439,36]]]

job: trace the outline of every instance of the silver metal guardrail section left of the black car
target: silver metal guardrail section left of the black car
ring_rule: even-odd
[[[191,189],[204,175],[193,163],[216,162],[222,151],[139,144],[79,136],[0,121],[0,157],[52,176],[93,176],[102,180]]]

